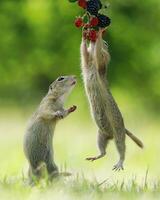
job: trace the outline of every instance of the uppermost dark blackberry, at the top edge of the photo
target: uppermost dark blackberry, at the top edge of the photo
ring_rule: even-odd
[[[87,11],[91,15],[97,15],[98,11],[100,10],[100,1],[99,0],[90,0],[87,2]]]

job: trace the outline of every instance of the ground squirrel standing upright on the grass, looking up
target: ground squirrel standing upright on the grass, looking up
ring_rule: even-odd
[[[58,120],[76,110],[76,106],[65,110],[64,101],[76,84],[75,76],[61,76],[49,86],[27,127],[24,137],[24,153],[29,161],[29,177],[41,177],[41,164],[46,165],[50,177],[58,174],[54,163],[52,139]]]

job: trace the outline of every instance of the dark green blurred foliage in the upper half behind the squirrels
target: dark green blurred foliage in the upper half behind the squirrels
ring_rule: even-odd
[[[110,84],[126,92],[132,89],[147,108],[157,111],[160,3],[158,0],[110,3],[106,13],[112,25],[105,38],[112,56]],[[81,12],[76,3],[67,0],[0,1],[1,103],[18,99],[19,104],[27,104],[45,93],[57,76],[80,77],[81,33],[73,22]]]

